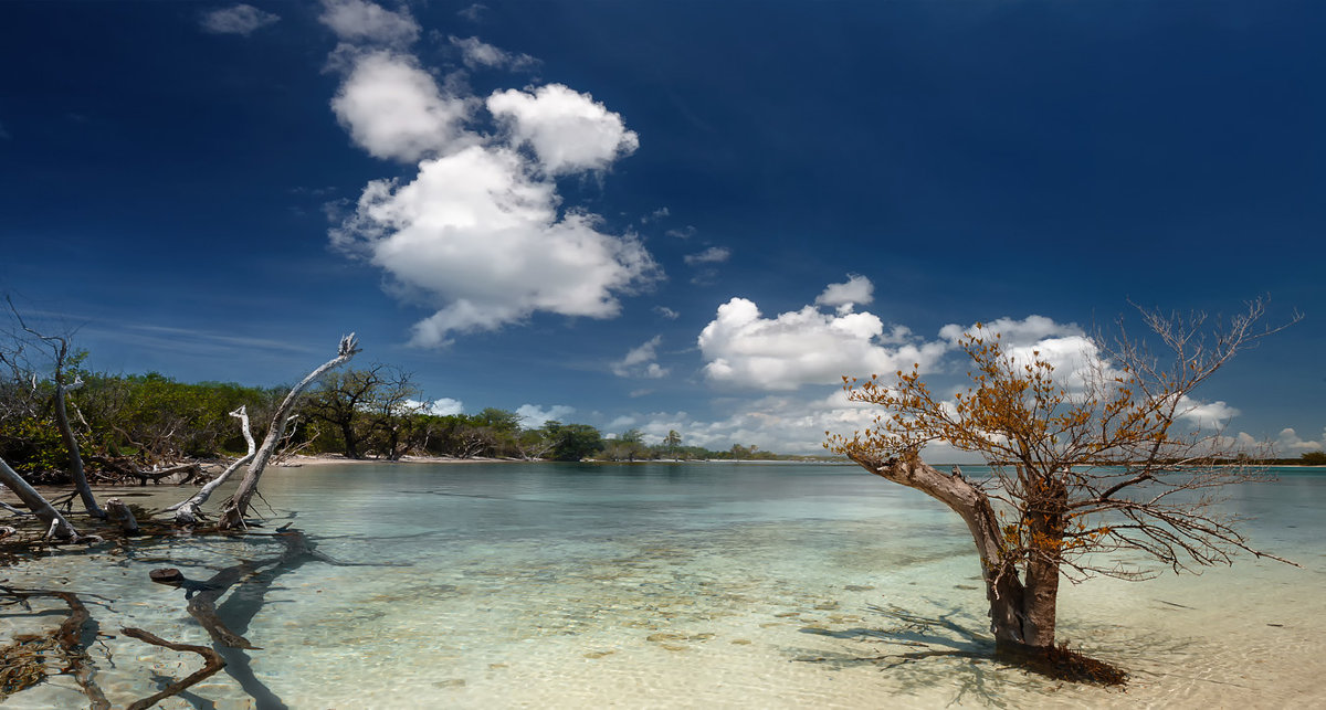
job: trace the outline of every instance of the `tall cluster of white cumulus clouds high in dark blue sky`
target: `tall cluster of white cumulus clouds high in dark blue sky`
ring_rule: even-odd
[[[387,11],[367,5],[328,3],[324,21],[362,15],[390,25]],[[371,155],[418,162],[418,172],[371,180],[330,237],[382,268],[398,297],[434,310],[415,325],[415,344],[538,311],[611,318],[621,294],[659,276],[639,238],[603,232],[598,216],[564,205],[553,181],[605,170],[635,148],[618,114],[562,85],[499,91],[488,103],[504,130],[485,134],[473,126],[483,102],[459,83],[439,86],[418,58],[383,49],[337,56],[349,57],[334,62],[347,69],[332,102],[342,126]]]

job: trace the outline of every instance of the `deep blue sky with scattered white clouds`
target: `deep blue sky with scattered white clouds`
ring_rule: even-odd
[[[1302,321],[1192,419],[1326,438],[1326,5],[0,4],[0,291],[90,366],[815,453],[842,375],[1134,305]]]

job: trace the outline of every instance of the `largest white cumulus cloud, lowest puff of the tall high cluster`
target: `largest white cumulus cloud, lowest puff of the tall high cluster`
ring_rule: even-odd
[[[424,160],[406,185],[370,183],[333,240],[367,253],[411,299],[440,306],[415,326],[416,344],[534,311],[617,315],[614,294],[652,278],[654,260],[634,237],[556,205],[554,185],[513,150],[472,146]]]

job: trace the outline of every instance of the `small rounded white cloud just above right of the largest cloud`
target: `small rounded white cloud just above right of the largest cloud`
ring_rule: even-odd
[[[488,110],[507,126],[513,143],[534,150],[549,175],[606,170],[639,147],[639,136],[626,128],[621,115],[561,83],[532,93],[493,91]]]

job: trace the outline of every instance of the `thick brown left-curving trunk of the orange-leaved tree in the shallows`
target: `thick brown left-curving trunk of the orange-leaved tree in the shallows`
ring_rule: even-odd
[[[870,473],[914,487],[963,518],[981,558],[981,578],[985,580],[985,597],[991,605],[991,633],[994,634],[997,648],[1013,650],[1054,645],[1058,566],[1053,570],[1053,587],[1046,584],[1048,580],[1041,574],[1029,576],[1024,584],[1018,579],[1017,560],[1010,559],[994,509],[983,490],[959,473],[949,476],[927,465],[915,452],[904,458],[888,460],[866,454],[849,456]]]

